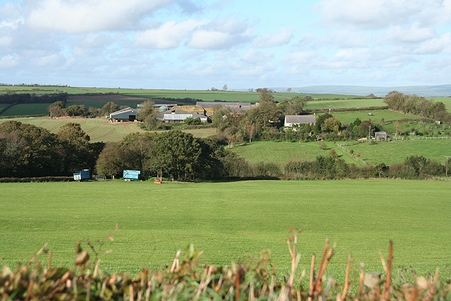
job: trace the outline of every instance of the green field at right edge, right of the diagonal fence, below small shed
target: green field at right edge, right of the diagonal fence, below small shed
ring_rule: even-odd
[[[393,164],[403,162],[407,156],[425,156],[445,164],[443,156],[451,156],[451,139],[448,140],[402,140],[378,142],[377,145],[360,143],[347,149],[353,149],[354,154],[370,164]],[[338,153],[338,150],[337,150]]]

